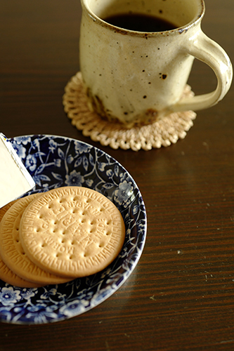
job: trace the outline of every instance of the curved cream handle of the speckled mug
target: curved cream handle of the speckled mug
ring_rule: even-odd
[[[223,48],[212,39],[209,39],[201,29],[197,33],[197,38],[193,42],[188,42],[188,46],[184,48],[184,51],[207,63],[216,74],[218,84],[216,90],[212,91],[212,93],[184,98],[171,106],[170,110],[173,112],[197,111],[216,105],[228,93],[233,79],[233,67],[230,58],[228,58]]]

